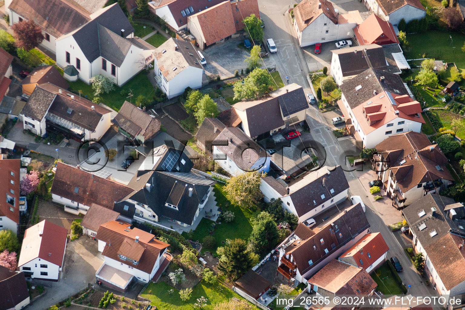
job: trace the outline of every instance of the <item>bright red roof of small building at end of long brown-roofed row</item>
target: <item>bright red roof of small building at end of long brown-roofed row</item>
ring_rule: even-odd
[[[367,268],[379,257],[383,256],[388,250],[389,247],[380,232],[370,233],[366,234],[349,250],[345,251],[345,253],[339,257],[339,260],[348,262],[344,258],[352,257],[353,262],[359,267]],[[368,254],[370,257],[368,257]],[[360,259],[362,260],[363,265],[360,264]]]

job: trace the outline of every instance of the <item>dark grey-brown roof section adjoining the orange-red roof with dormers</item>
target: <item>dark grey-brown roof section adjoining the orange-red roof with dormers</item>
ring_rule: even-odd
[[[383,76],[384,81],[380,82],[380,78]],[[355,89],[357,86],[362,87],[357,90]],[[408,95],[404,82],[402,82],[399,75],[376,69],[365,70],[353,79],[344,82],[340,89],[351,108],[359,106],[372,98],[374,90],[377,94],[385,91],[396,95]]]

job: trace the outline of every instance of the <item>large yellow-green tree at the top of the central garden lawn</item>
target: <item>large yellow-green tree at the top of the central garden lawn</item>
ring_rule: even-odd
[[[262,176],[264,176],[264,173],[253,171],[243,172],[231,177],[226,186],[223,187],[226,198],[241,207],[255,207],[259,200],[263,198],[263,193],[260,191]]]

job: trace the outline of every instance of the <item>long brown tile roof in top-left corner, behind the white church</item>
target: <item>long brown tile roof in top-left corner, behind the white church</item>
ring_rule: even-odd
[[[8,8],[56,38],[90,20],[89,13],[65,0],[13,0]]]

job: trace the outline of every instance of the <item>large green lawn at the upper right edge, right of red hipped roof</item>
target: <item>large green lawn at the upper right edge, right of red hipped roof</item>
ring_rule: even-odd
[[[452,45],[450,45],[450,40],[447,41],[449,35],[452,35]],[[405,53],[406,59],[424,58],[423,55],[425,54],[425,57],[434,57],[445,62],[455,62],[460,72],[465,70],[465,56],[460,50],[465,41],[465,34],[428,31],[426,33],[407,34],[407,40],[410,43],[411,50]]]

